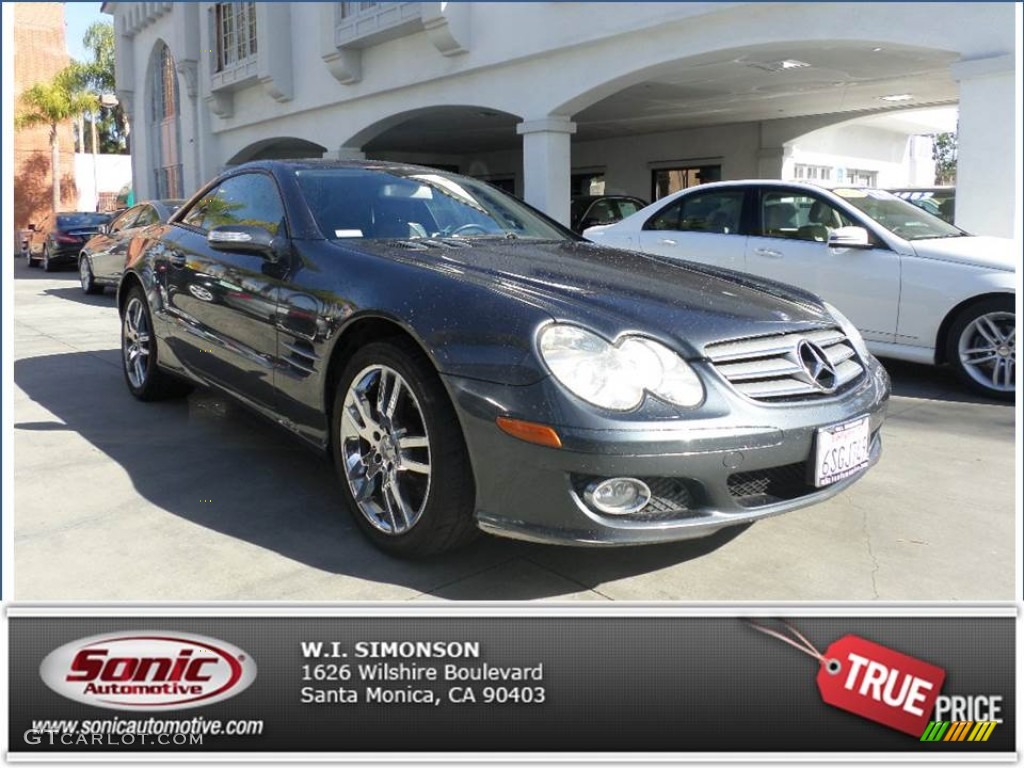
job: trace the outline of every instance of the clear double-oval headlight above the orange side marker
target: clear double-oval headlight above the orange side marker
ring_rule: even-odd
[[[609,411],[632,411],[644,392],[676,406],[703,401],[703,385],[686,362],[664,344],[627,336],[610,344],[578,326],[549,326],[541,333],[541,357],[558,382],[587,402]]]

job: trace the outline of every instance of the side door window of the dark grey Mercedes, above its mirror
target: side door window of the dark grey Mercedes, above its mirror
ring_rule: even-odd
[[[209,230],[224,224],[253,224],[276,234],[285,221],[278,185],[262,173],[231,176],[210,189],[185,214],[182,223]]]

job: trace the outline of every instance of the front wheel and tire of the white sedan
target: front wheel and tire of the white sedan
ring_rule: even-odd
[[[949,328],[946,359],[969,388],[1000,400],[1017,389],[1016,313],[1012,296],[993,296],[962,311]]]

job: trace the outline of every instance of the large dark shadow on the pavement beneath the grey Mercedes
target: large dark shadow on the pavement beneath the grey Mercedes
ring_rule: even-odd
[[[443,557],[397,560],[374,548],[355,526],[326,457],[206,390],[178,400],[138,402],[124,385],[118,356],[119,350],[112,349],[16,360],[14,383],[55,421],[18,421],[15,414],[15,441],[19,432],[75,432],[120,465],[150,504],[326,572],[449,598],[445,586],[458,583],[453,599],[558,597],[703,557],[749,527],[691,542],[614,549],[556,548],[481,536]],[[73,397],[70,372],[75,374]],[[45,507],[47,501],[40,504]],[[587,575],[574,581],[556,575],[561,568],[552,565],[561,559]],[[512,561],[527,561],[551,578],[503,584],[497,596],[493,581],[487,587],[486,578],[470,579]]]

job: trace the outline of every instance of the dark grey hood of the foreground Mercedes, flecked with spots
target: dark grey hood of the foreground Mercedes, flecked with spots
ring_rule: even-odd
[[[476,283],[609,339],[658,338],[691,358],[715,341],[835,325],[799,289],[586,242],[367,241],[359,250]]]

